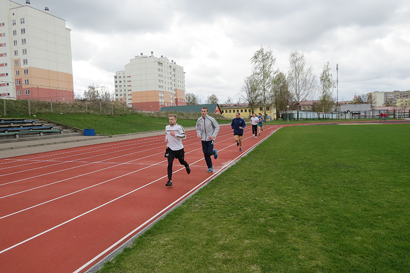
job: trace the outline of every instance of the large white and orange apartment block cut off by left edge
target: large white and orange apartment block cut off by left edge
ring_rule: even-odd
[[[0,98],[74,101],[70,32],[48,7],[0,0]]]

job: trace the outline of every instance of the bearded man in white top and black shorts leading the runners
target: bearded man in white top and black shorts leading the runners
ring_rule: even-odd
[[[187,161],[184,160],[185,152],[183,151],[182,139],[186,139],[185,130],[176,123],[176,115],[169,115],[170,124],[165,128],[165,142],[167,142],[167,151],[165,157],[168,158],[168,182],[166,186],[172,186],[172,164],[177,158],[181,165],[185,166],[187,173],[191,173],[191,169]]]

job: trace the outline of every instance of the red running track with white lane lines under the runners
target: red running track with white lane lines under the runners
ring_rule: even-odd
[[[213,173],[196,131],[187,132],[192,172],[175,160],[172,187],[165,136],[0,159],[1,271],[86,272],[279,128],[265,125],[255,139],[247,125],[239,152],[221,126]]]

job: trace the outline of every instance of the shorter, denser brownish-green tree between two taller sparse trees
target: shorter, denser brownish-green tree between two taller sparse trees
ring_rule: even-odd
[[[272,101],[276,108],[276,120],[279,118],[280,111],[286,111],[292,99],[292,95],[289,92],[288,81],[286,75],[283,72],[279,72],[273,78]]]

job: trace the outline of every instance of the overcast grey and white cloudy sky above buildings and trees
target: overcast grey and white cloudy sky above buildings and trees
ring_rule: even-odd
[[[24,5],[25,0],[15,0]],[[401,0],[31,0],[71,29],[76,93],[88,85],[114,90],[114,74],[135,55],[161,55],[186,72],[186,92],[202,102],[235,102],[250,59],[271,49],[288,73],[289,55],[304,54],[317,77],[330,62],[339,100],[410,89],[410,1]],[[334,90],[336,97],[336,89]]]

